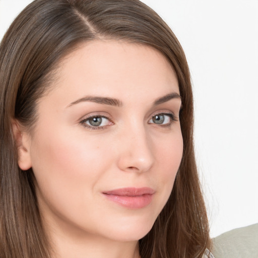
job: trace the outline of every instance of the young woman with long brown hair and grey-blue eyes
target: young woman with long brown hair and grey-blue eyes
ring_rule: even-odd
[[[155,12],[36,0],[0,67],[2,258],[208,253],[188,66]]]

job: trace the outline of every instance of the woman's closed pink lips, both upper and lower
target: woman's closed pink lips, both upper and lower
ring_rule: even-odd
[[[150,187],[127,187],[103,192],[110,201],[130,209],[141,209],[152,201],[154,190]]]

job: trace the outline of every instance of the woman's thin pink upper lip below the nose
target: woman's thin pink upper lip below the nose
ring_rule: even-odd
[[[105,191],[106,195],[114,195],[114,196],[142,196],[142,195],[153,195],[155,191],[150,187],[126,187],[119,188],[110,191]]]

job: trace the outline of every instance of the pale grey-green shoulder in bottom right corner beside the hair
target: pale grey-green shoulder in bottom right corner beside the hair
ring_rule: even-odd
[[[216,258],[257,258],[258,223],[233,229],[215,237],[213,254]]]

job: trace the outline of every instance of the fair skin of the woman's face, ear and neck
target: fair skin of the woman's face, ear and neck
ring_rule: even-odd
[[[96,40],[62,60],[50,89],[18,163],[34,171],[53,257],[139,257],[182,157],[173,69],[151,47]],[[107,194],[127,187],[149,192]]]

